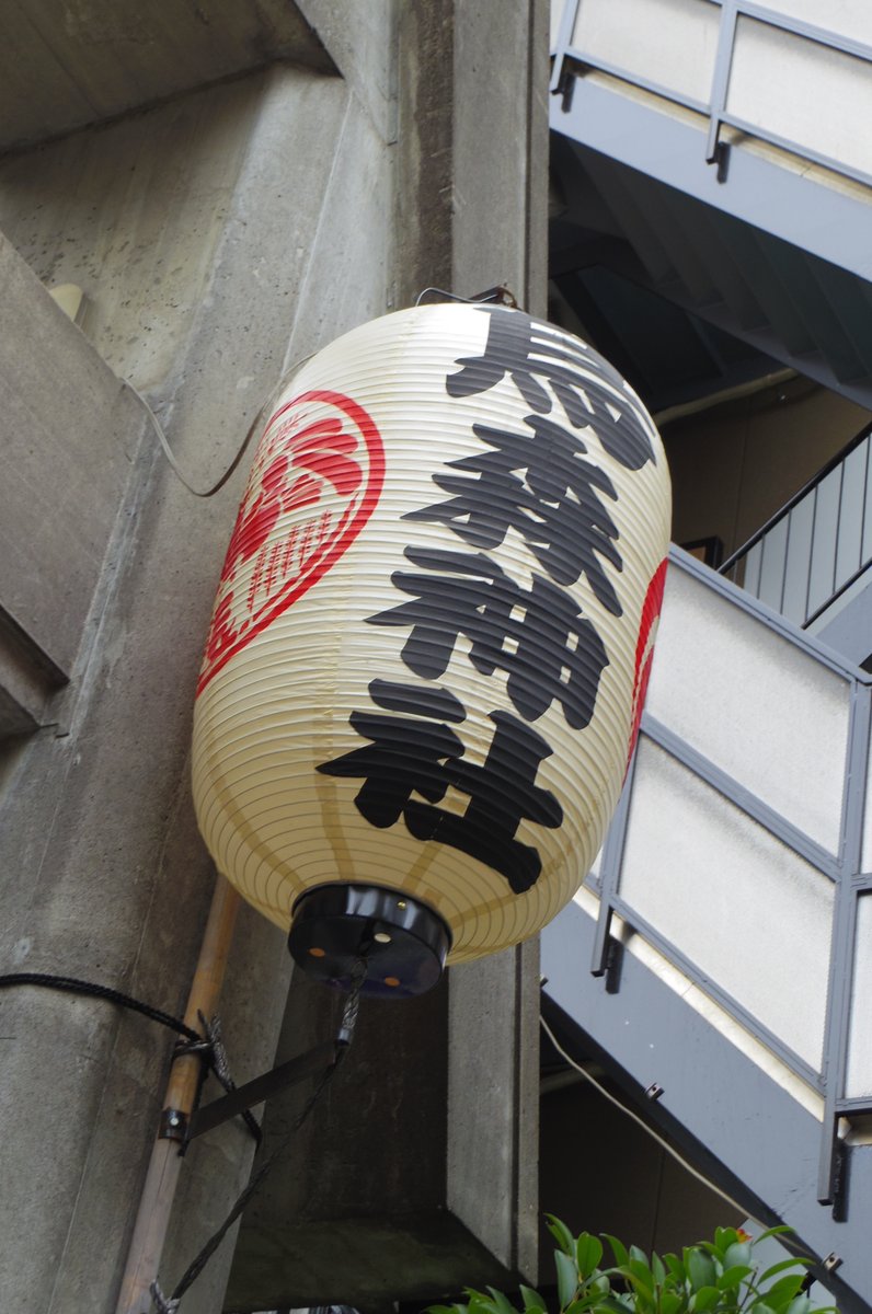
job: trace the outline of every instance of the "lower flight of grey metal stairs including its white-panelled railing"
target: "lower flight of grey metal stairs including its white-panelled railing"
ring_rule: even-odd
[[[672,549],[639,750],[547,1007],[872,1301],[871,677]],[[648,1100],[644,1100],[646,1092]],[[654,1097],[654,1099],[652,1099]]]

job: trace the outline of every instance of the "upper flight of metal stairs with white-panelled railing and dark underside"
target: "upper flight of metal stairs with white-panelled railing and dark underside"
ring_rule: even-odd
[[[848,110],[856,102],[861,124],[867,100],[872,105],[872,11],[856,32],[826,33],[790,17],[802,7],[788,3],[566,0],[559,8],[551,126],[562,212],[552,222],[552,272],[581,322],[616,315],[589,276],[596,263],[872,406],[872,177],[835,118],[834,154],[825,156],[798,110],[798,139],[769,133],[765,116],[748,122],[751,109],[742,110],[754,100],[748,53],[776,41],[788,66],[784,100],[815,95],[814,84],[801,85],[797,51],[823,92],[833,60],[847,60],[843,99]],[[616,63],[621,21],[627,33],[637,29],[635,45],[639,25],[650,25],[652,60],[655,49],[680,47],[705,28],[706,97],[700,88],[689,95],[675,68],[642,70],[629,38],[627,67]],[[623,325],[613,327],[619,339]],[[733,381],[729,372],[723,381]]]

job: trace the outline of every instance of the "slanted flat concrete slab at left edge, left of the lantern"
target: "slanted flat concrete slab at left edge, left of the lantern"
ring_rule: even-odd
[[[0,652],[38,720],[72,670],[142,414],[1,235],[0,307]]]

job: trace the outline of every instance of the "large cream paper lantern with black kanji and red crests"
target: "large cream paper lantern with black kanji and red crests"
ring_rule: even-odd
[[[663,593],[652,420],[502,306],[355,328],[279,399],[200,675],[218,869],[297,962],[417,993],[572,897],[621,791]]]

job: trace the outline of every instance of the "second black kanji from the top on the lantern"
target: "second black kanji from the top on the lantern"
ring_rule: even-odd
[[[477,548],[497,547],[514,528],[556,583],[585,576],[602,606],[619,616],[601,560],[622,569],[618,530],[597,495],[617,501],[614,485],[605,470],[583,460],[587,447],[577,434],[539,415],[527,415],[525,423],[529,430],[521,434],[473,424],[476,438],[493,451],[451,461],[451,469],[466,474],[434,474],[433,482],[455,495],[408,511],[404,519],[446,524]]]

